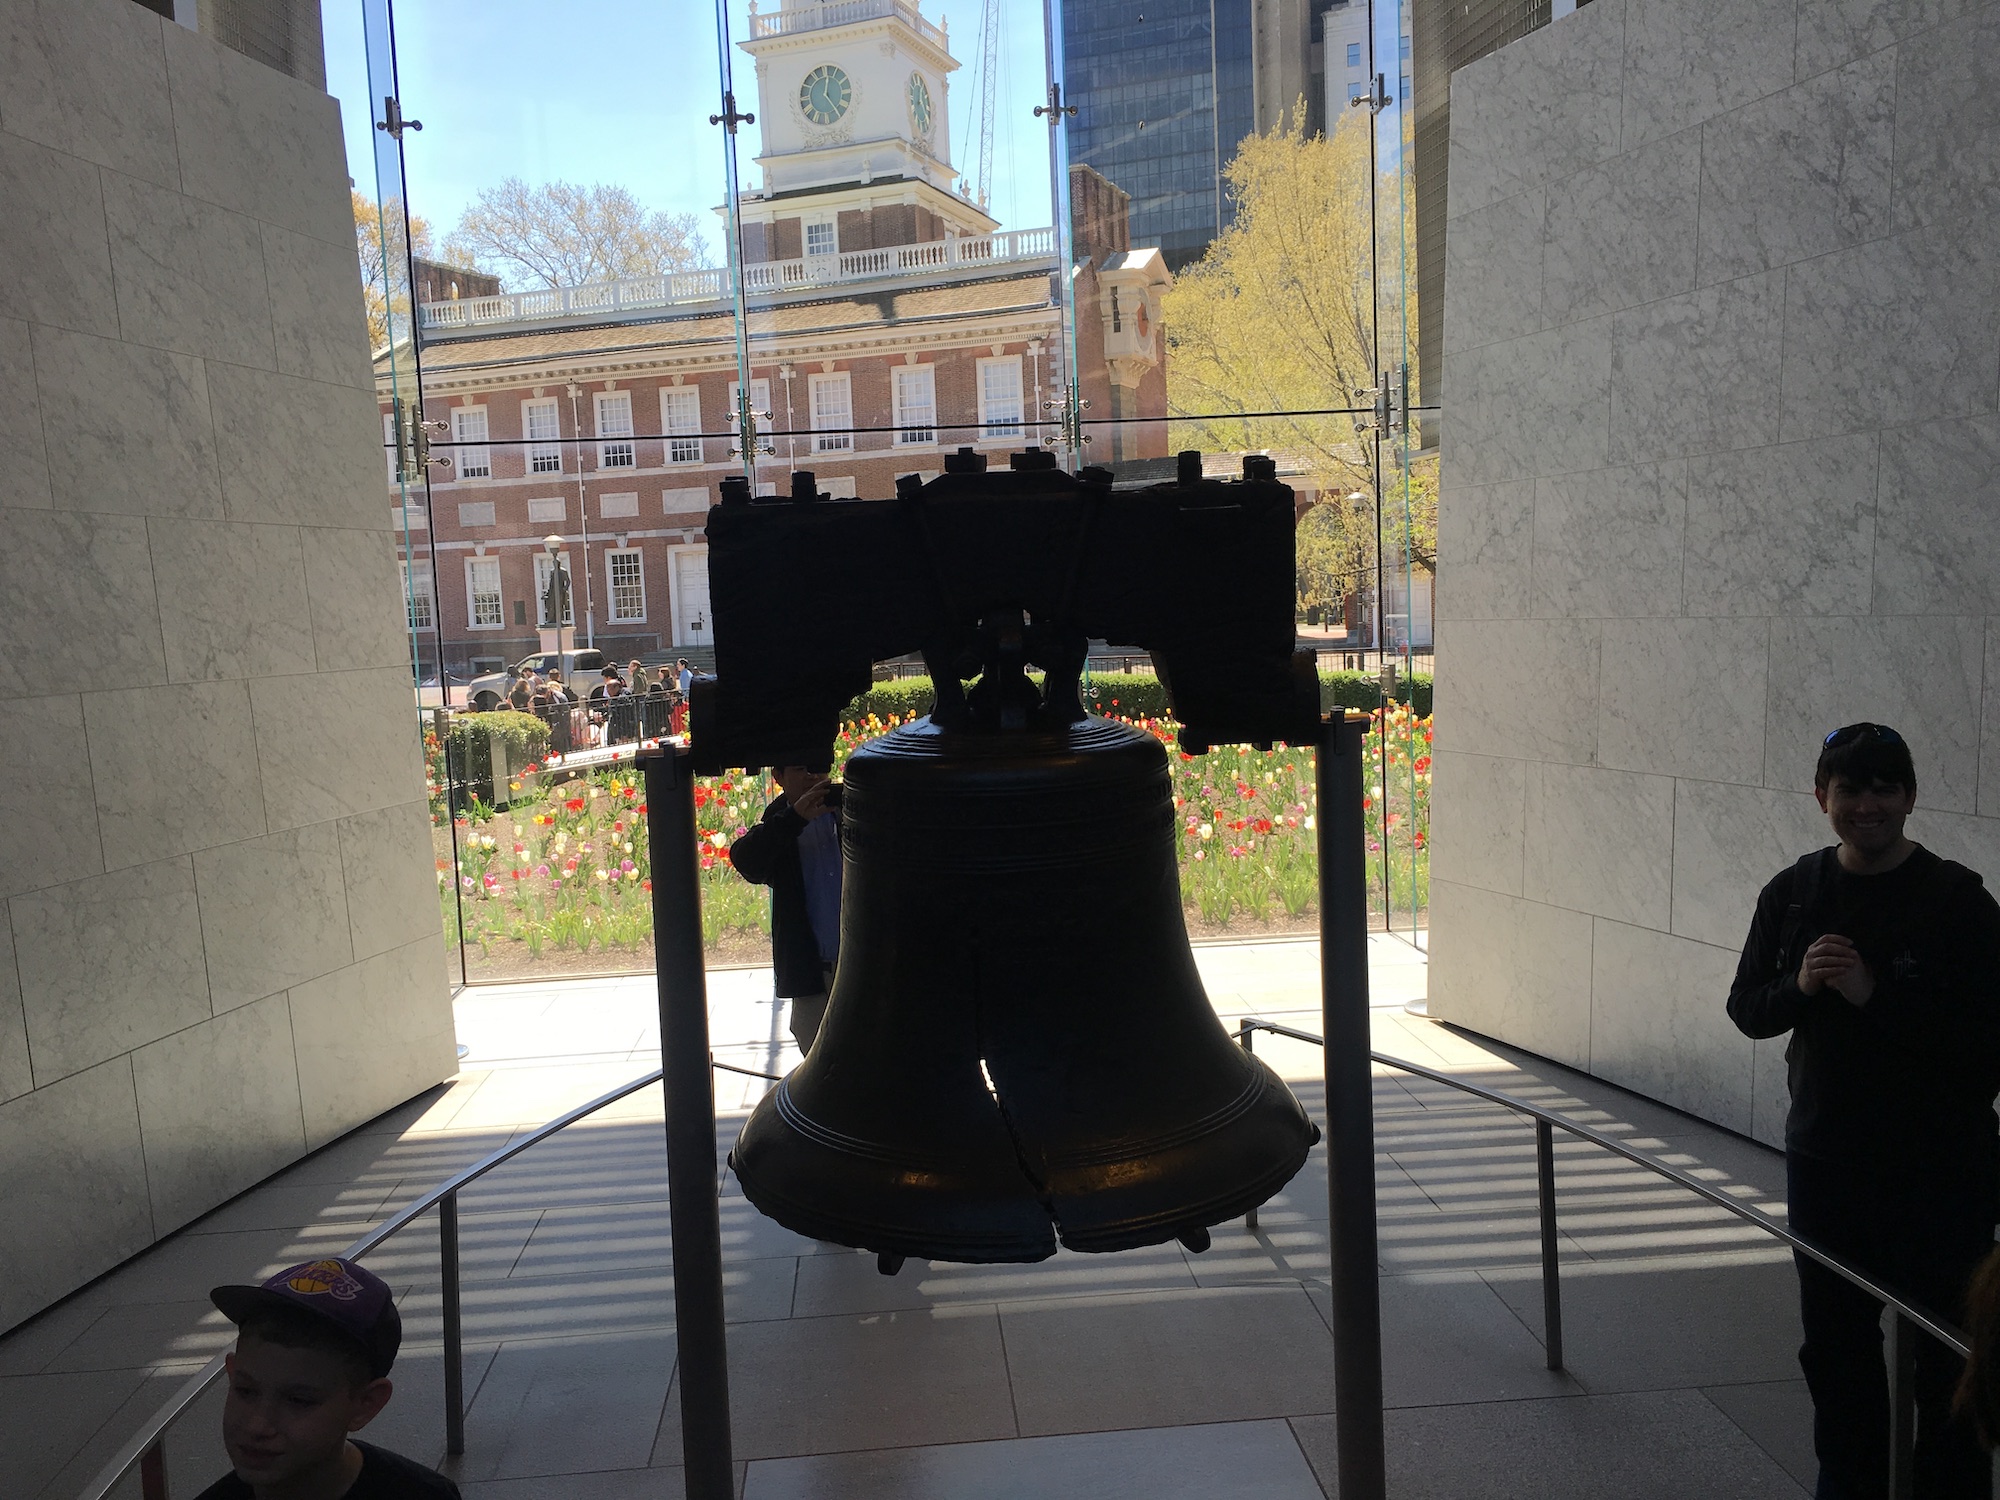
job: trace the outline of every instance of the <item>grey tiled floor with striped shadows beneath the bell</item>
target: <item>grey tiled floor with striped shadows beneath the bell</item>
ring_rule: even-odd
[[[1216,1010],[1318,1030],[1318,946],[1198,950]],[[1672,1110],[1404,1014],[1406,940],[1372,950],[1376,1046],[1572,1110],[1782,1212],[1782,1164]],[[766,970],[710,976],[716,1054],[778,1072]],[[0,1494],[72,1496],[230,1330],[218,1280],[334,1250],[516,1132],[656,1064],[642,980],[474,990],[460,1078],[216,1210],[0,1338]],[[1322,1112],[1316,1048],[1258,1040]],[[1528,1064],[1528,1066],[1522,1066]],[[724,1150],[762,1080],[718,1074]],[[1810,1482],[1792,1272],[1774,1244],[1642,1168],[1560,1144],[1568,1370],[1544,1368],[1532,1132],[1376,1078],[1392,1494],[1798,1496]],[[470,1500],[680,1494],[660,1096],[644,1090],[464,1194]],[[908,1264],[800,1240],[724,1178],[744,1500],[1334,1492],[1324,1156],[1200,1256]],[[442,1460],[436,1226],[372,1262],[402,1294],[398,1394],[370,1436]],[[210,1394],[176,1494],[222,1470]],[[136,1496],[136,1486],[132,1488]]]

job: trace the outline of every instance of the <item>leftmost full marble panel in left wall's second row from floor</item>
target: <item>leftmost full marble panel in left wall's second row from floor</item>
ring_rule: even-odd
[[[14,896],[8,918],[36,1088],[208,1020],[188,860]]]

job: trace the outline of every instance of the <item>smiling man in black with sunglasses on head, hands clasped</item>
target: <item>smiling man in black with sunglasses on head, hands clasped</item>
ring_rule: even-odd
[[[2000,906],[1972,870],[1904,834],[1910,746],[1884,724],[1826,736],[1814,772],[1840,840],[1764,886],[1730,988],[1746,1036],[1792,1034],[1792,1228],[1898,1296],[1958,1320],[1994,1248],[2000,1198]],[[1798,1362],[1814,1408],[1818,1500],[1888,1492],[1882,1304],[1798,1264]],[[1962,1362],[1918,1338],[1916,1494],[1992,1494]]]

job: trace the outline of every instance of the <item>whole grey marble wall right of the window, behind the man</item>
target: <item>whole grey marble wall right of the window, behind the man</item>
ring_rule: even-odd
[[[1432,1014],[1760,1140],[1722,1010],[1910,740],[2000,882],[2000,4],[1594,0],[1452,78]]]

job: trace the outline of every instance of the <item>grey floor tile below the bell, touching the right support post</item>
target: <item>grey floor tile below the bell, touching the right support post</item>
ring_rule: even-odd
[[[1030,1302],[1000,1324],[1024,1436],[1334,1404],[1334,1342],[1296,1284]]]

